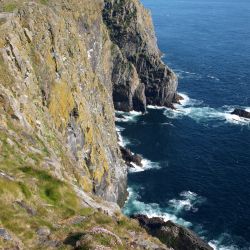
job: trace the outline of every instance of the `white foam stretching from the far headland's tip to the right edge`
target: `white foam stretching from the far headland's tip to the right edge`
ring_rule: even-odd
[[[191,99],[186,94],[180,94],[183,100],[181,104],[176,105],[176,110],[166,109],[164,114],[170,119],[180,119],[187,116],[194,121],[208,122],[219,121],[221,124],[224,122],[232,123],[236,125],[250,125],[250,120],[232,115],[234,106],[223,106],[221,108],[211,108],[204,106],[201,101]],[[242,107],[245,110],[250,110],[249,107]]]

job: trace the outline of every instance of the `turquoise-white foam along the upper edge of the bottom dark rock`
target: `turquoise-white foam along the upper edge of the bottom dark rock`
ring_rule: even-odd
[[[138,193],[136,193],[132,188],[128,188],[129,198],[125,204],[123,212],[127,215],[131,214],[145,214],[149,218],[160,217],[164,221],[171,220],[180,225],[189,227],[192,224],[182,218],[178,218],[176,215],[168,213],[164,208],[161,208],[159,204],[156,203],[144,203],[139,201]]]

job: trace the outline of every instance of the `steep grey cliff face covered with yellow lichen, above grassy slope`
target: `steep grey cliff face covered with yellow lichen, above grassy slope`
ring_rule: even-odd
[[[1,125],[7,133],[11,123],[26,134],[13,131],[12,140],[41,140],[48,152],[39,152],[36,167],[117,202],[124,199],[126,168],[115,132],[112,43],[102,2],[83,2],[28,2],[6,15]]]

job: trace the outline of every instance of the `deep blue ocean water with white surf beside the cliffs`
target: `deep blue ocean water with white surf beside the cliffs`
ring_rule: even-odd
[[[124,213],[190,227],[215,249],[250,249],[250,1],[143,0],[164,60],[179,75],[177,111],[149,107],[117,120],[143,156]]]

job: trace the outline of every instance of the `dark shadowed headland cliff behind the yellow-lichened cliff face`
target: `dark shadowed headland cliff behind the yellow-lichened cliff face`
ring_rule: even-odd
[[[137,0],[105,0],[103,19],[120,50],[115,48],[113,53],[117,61],[112,77],[115,108],[172,107],[177,77],[161,60],[150,13]],[[117,72],[125,77],[118,77]]]

